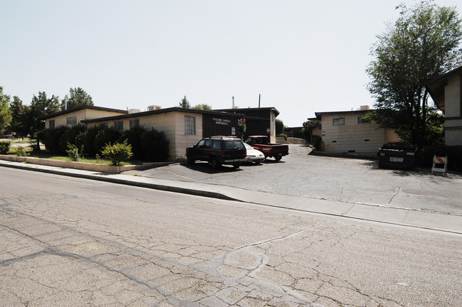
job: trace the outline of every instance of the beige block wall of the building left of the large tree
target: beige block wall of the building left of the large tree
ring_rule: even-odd
[[[385,129],[376,129],[374,123],[358,124],[358,117],[366,112],[322,114],[324,151],[328,154],[351,153],[376,156],[385,143]],[[344,125],[333,125],[333,119],[344,117]],[[390,139],[392,139],[389,134]]]

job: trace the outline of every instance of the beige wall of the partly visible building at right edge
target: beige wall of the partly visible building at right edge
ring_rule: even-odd
[[[448,146],[462,145],[462,77],[453,75],[444,87],[444,136]]]

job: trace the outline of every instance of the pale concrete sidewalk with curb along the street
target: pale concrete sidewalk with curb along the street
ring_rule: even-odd
[[[245,190],[225,185],[168,181],[124,174],[114,175],[108,173],[96,173],[71,168],[39,166],[35,164],[4,160],[0,160],[0,166],[20,168],[29,171],[41,171],[44,173],[53,173],[62,176],[86,178],[109,183],[133,185],[142,188],[166,190],[176,193],[186,193],[209,198],[238,200],[245,203],[267,205],[275,208],[286,208],[322,215],[333,215],[357,220],[384,222],[391,225],[403,225],[428,230],[439,230],[462,235],[462,217],[458,215],[445,215],[435,212],[390,208],[378,205],[343,203],[340,201],[320,200],[315,198],[303,198],[299,196]]]

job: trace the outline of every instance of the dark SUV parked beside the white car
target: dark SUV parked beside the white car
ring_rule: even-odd
[[[239,168],[240,163],[247,161],[244,143],[233,136],[212,136],[201,139],[198,144],[186,149],[188,163],[207,161],[213,169],[222,164],[230,164]]]

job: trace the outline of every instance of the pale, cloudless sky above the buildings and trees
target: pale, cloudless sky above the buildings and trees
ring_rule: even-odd
[[[275,107],[285,126],[372,105],[377,35],[412,0],[0,0],[0,86],[98,107]],[[458,6],[460,0],[436,0]]]

